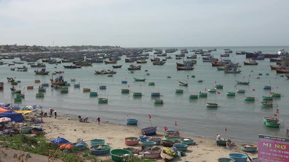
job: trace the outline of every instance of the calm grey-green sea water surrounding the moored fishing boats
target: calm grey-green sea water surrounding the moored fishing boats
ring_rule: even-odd
[[[166,49],[165,47],[159,47]],[[187,48],[192,49],[213,49],[216,47],[177,47],[178,49]],[[100,116],[102,121],[116,122],[125,124],[127,116],[129,118],[139,119],[138,126],[150,126],[148,114],[151,115],[152,125],[157,125],[158,130],[164,129],[167,126],[169,129],[178,129],[181,133],[191,134],[194,136],[215,137],[216,133],[224,136],[225,127],[227,127],[226,136],[231,137],[233,141],[246,141],[257,142],[258,134],[281,136],[284,137],[286,129],[288,128],[287,122],[289,120],[288,109],[288,94],[289,80],[286,77],[281,77],[283,74],[276,74],[275,71],[270,70],[269,59],[265,61],[258,61],[258,66],[244,66],[245,55],[236,55],[236,51],[263,51],[263,53],[277,53],[278,49],[289,50],[289,46],[254,46],[254,47],[217,47],[217,52],[212,52],[215,58],[219,58],[220,54],[224,54],[225,48],[233,50],[230,54],[231,61],[241,65],[241,74],[224,74],[223,71],[217,71],[216,67],[212,67],[210,62],[202,62],[201,56],[198,55],[197,64],[193,71],[177,71],[175,54],[172,54],[173,59],[166,62],[165,65],[152,65],[148,60],[146,64],[142,65],[141,71],[134,71],[134,74],[128,73],[127,67],[131,63],[125,63],[125,56],[121,57],[122,60],[118,64],[122,64],[122,68],[114,69],[117,74],[113,77],[107,75],[95,75],[94,70],[112,69],[112,64],[93,63],[92,67],[82,67],[81,69],[64,69],[63,65],[71,63],[61,63],[58,65],[47,64],[47,70],[50,74],[54,71],[65,71],[64,78],[70,82],[71,78],[76,79],[76,83],[80,82],[80,88],[74,88],[73,82],[69,87],[69,93],[61,94],[60,90],[47,88],[44,98],[36,98],[35,94],[38,92],[37,88],[40,83],[34,83],[34,80],[39,79],[41,83],[49,82],[51,75],[35,75],[34,68],[29,68],[28,72],[11,71],[10,66],[0,66],[0,81],[4,82],[4,90],[0,91],[0,102],[11,102],[19,104],[21,107],[24,105],[41,105],[44,110],[53,108],[58,113],[72,116],[88,116],[89,118],[96,119]],[[192,55],[192,52],[186,54]],[[150,57],[153,52],[150,52]],[[165,59],[165,58],[164,58]],[[59,60],[59,59],[58,59]],[[19,58],[14,60],[4,60],[11,63],[12,61],[20,61]],[[24,65],[26,65],[25,62]],[[22,66],[22,65],[17,65]],[[26,65],[29,66],[29,65]],[[57,68],[54,68],[56,66]],[[148,70],[145,72],[145,70]],[[254,70],[250,72],[250,70]],[[146,75],[149,73],[150,75]],[[255,77],[262,73],[260,79]],[[266,75],[269,73],[269,75]],[[195,75],[195,78],[191,78]],[[250,77],[249,85],[236,84],[235,80],[247,81]],[[171,78],[167,78],[170,76]],[[189,76],[189,78],[187,77]],[[16,77],[21,81],[19,85],[21,88],[26,86],[34,86],[33,90],[26,90],[25,98],[20,103],[14,103],[14,96],[10,92],[10,83],[7,82],[6,77]],[[53,76],[55,78],[55,76]],[[146,78],[146,81],[134,81],[135,78]],[[275,78],[276,77],[276,78]],[[121,80],[127,80],[128,84],[121,84]],[[189,86],[179,86],[178,80],[188,81]],[[197,82],[197,80],[204,80],[204,82]],[[218,90],[220,94],[208,92],[208,98],[189,99],[188,95],[197,94],[199,91],[204,91],[205,88],[212,88],[217,84],[223,84],[224,88]],[[155,82],[154,86],[148,85],[148,82]],[[109,98],[108,103],[99,104],[96,97],[90,97],[89,93],[82,92],[82,88],[91,88],[96,91],[99,85],[106,85],[106,90],[98,90],[99,96]],[[131,92],[129,94],[121,94],[121,88],[127,88]],[[244,101],[244,94],[236,93],[234,97],[226,96],[226,91],[236,91],[235,85],[239,89],[245,89],[245,95],[255,96],[256,101]],[[271,85],[272,92],[282,93],[282,97],[275,99],[274,102],[278,103],[280,114],[279,118],[284,121],[284,126],[281,128],[269,128],[263,123],[263,117],[271,117],[276,112],[276,104],[272,108],[262,108],[262,96],[268,96],[269,90],[264,90],[263,85]],[[184,89],[183,94],[175,93],[175,89]],[[256,91],[252,91],[252,89]],[[133,97],[132,92],[142,92],[144,96]],[[160,92],[160,99],[164,99],[164,104],[155,104],[151,92]],[[215,102],[219,104],[218,108],[206,108],[206,102]],[[177,121],[177,126],[174,125]]]

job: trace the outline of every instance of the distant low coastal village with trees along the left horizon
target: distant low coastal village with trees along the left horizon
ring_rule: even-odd
[[[81,46],[37,46],[37,45],[0,45],[0,53],[16,53],[16,52],[57,52],[57,51],[81,51],[81,50],[98,50],[98,49],[117,49],[120,46],[95,46],[95,45],[81,45]]]

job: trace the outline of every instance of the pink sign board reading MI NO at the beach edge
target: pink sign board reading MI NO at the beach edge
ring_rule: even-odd
[[[289,139],[259,135],[258,162],[289,162]]]

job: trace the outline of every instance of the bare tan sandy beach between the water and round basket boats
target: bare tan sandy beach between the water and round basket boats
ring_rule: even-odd
[[[141,142],[136,146],[127,146],[124,144],[124,138],[126,137],[139,137],[141,135],[140,129],[137,126],[127,126],[110,123],[109,121],[101,121],[100,125],[97,125],[96,121],[90,120],[89,122],[79,122],[76,118],[71,117],[58,117],[57,119],[44,118],[42,126],[45,129],[45,136],[51,140],[57,137],[63,137],[70,142],[76,142],[77,139],[83,139],[84,141],[92,139],[105,139],[105,142],[111,146],[112,149],[134,147],[141,148]],[[159,130],[162,128],[158,128]],[[164,131],[158,131],[157,135],[153,137],[163,138]],[[215,143],[215,139],[208,139],[202,137],[194,137],[190,135],[184,135],[181,133],[181,137],[193,138],[195,145],[189,145],[187,156],[181,158],[175,158],[173,161],[194,161],[194,162],[216,162],[218,158],[228,157],[230,153],[243,153],[240,149],[240,143],[234,142],[232,149],[226,149],[225,147],[218,147]],[[87,142],[89,144],[89,142]],[[179,142],[177,142],[179,143]],[[161,148],[163,146],[159,145]],[[89,151],[89,150],[87,150]],[[209,156],[208,156],[209,155]],[[255,158],[258,154],[248,154],[251,158]],[[110,155],[100,157],[105,160]],[[161,158],[157,159],[163,161]]]

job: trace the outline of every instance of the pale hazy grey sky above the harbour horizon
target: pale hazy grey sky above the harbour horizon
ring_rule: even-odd
[[[289,0],[0,0],[0,44],[289,45]]]

